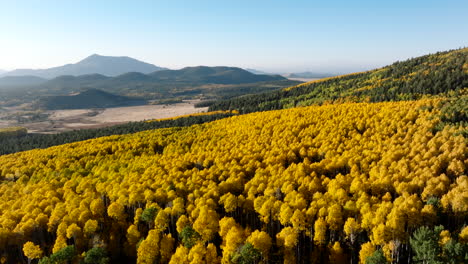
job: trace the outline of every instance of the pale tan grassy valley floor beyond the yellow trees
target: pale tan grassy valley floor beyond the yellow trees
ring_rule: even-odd
[[[48,115],[46,119],[28,123],[6,120],[0,116],[0,128],[23,126],[30,133],[58,133],[206,112],[207,107],[195,108],[197,102],[184,101],[171,105],[141,105],[104,109],[54,110],[45,112]]]

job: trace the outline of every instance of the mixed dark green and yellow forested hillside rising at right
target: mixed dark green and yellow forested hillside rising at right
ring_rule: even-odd
[[[361,73],[214,104],[210,110],[254,112],[333,101],[411,100],[468,87],[468,48],[439,52]]]

